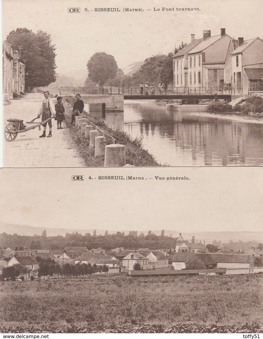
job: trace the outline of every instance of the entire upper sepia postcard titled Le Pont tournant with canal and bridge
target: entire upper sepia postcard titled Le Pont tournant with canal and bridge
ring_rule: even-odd
[[[261,0],[3,0],[4,167],[262,166]]]

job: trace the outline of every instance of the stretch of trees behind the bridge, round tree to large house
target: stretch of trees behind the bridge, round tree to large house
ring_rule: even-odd
[[[114,56],[105,52],[95,53],[87,62],[88,78],[85,86],[96,83],[99,86],[139,86],[141,81],[158,84],[163,81],[165,85],[173,82],[172,56],[180,51],[186,43],[182,42],[175,47],[174,52],[157,54],[144,60],[144,63],[132,76],[125,75],[118,68]]]

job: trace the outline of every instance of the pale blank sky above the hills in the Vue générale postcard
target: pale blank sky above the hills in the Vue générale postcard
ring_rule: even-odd
[[[72,175],[84,181],[72,181]],[[98,180],[112,175],[148,179]],[[190,180],[166,180],[170,176]],[[4,168],[0,183],[3,223],[139,233],[262,232],[260,167]]]

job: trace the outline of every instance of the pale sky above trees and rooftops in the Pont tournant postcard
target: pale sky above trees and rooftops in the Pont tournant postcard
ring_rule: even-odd
[[[80,13],[68,13],[73,5]],[[101,7],[119,8],[120,12],[95,12]],[[176,11],[185,7],[200,10]],[[143,11],[123,12],[123,8]],[[225,28],[231,37],[263,38],[262,0],[3,0],[2,12],[3,39],[19,27],[51,34],[59,74],[86,70],[88,59],[96,52],[113,55],[118,67],[124,68],[158,53],[168,54],[182,41],[189,43],[191,34],[201,38],[207,29],[212,36]]]

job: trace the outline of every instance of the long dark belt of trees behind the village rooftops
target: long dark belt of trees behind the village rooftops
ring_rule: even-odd
[[[34,250],[34,249],[47,249],[47,250],[63,250],[65,246],[86,246],[88,249],[102,247],[108,251],[115,247],[124,247],[127,249],[147,247],[153,248],[173,248],[175,246],[177,238],[171,235],[167,236],[162,230],[160,235],[148,231],[144,233],[137,233],[137,231],[131,231],[127,235],[124,232],[117,232],[109,234],[105,231],[104,235],[97,235],[96,230],[93,234],[86,233],[84,235],[78,232],[67,233],[63,236],[49,237],[43,232],[43,235],[34,236],[20,236],[18,234],[0,234],[0,248],[10,247],[17,248],[18,250]],[[189,239],[189,242],[203,242],[202,239],[196,239],[194,236]],[[187,241],[187,239],[185,240]],[[243,242],[241,240],[237,242],[229,241],[228,243],[221,243],[220,241],[213,241],[213,245],[209,248],[211,252],[216,252],[216,248],[227,248],[229,250],[243,250],[247,251],[251,247],[258,247],[262,250],[263,245],[257,241]]]

